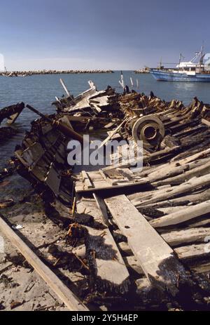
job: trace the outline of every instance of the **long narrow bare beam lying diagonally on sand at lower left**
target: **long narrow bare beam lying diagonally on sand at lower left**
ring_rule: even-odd
[[[57,296],[72,311],[88,311],[88,308],[80,301],[73,292],[67,288],[64,283],[53,273],[31,248],[16,234],[8,224],[0,216],[0,230],[10,239],[12,244],[18,248],[18,251],[25,257],[27,262],[34,267],[34,270],[42,277],[42,279],[50,286]]]

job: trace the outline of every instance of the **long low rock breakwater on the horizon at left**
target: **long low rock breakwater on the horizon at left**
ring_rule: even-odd
[[[103,74],[114,73],[113,70],[37,70],[37,71],[7,71],[0,72],[3,77],[27,77],[36,74]]]

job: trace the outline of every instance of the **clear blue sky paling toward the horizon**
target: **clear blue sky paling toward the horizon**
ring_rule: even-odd
[[[209,0],[1,0],[7,69],[137,69],[186,60],[204,41]]]

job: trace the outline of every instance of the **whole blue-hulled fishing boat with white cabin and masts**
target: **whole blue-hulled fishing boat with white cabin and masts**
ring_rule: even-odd
[[[210,82],[210,72],[205,69],[204,56],[202,47],[189,62],[181,62],[181,55],[179,65],[176,65],[175,69],[160,66],[157,69],[150,69],[150,72],[158,81]]]

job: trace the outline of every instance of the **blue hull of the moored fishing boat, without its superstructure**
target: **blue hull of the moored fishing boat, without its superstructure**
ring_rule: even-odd
[[[183,82],[210,82],[210,74],[188,74],[151,70],[151,74],[158,81],[183,81]]]

